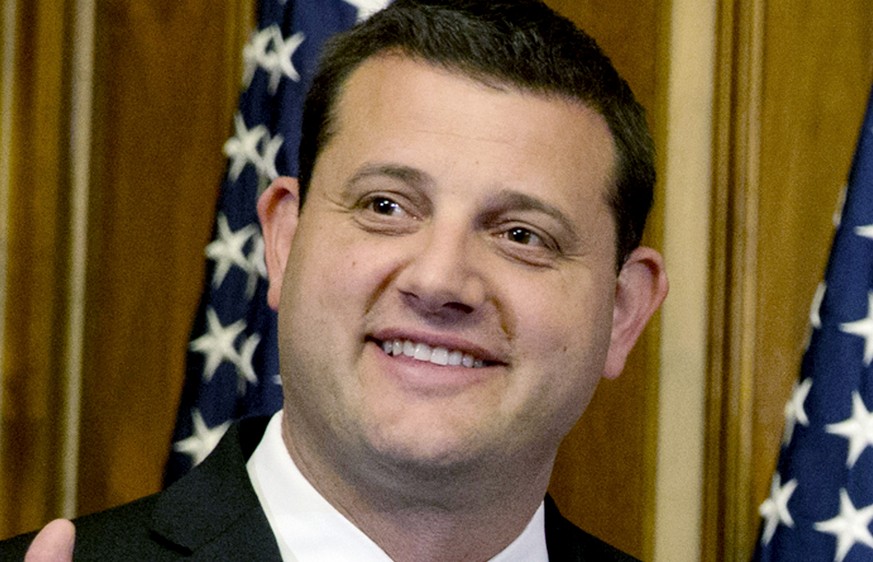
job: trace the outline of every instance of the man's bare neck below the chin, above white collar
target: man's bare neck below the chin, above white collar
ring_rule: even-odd
[[[488,560],[515,540],[543,500],[552,459],[476,467],[384,464],[335,470],[283,428],[285,445],[307,480],[393,560]],[[495,469],[499,466],[499,469]],[[510,467],[524,467],[523,470]]]

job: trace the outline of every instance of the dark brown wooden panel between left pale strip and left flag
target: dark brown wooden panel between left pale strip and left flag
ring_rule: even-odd
[[[81,513],[160,487],[252,9],[97,2]]]

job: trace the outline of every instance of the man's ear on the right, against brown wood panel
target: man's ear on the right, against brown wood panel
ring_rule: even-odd
[[[661,254],[644,247],[631,253],[616,280],[606,378],[621,374],[628,353],[667,296],[668,286]]]

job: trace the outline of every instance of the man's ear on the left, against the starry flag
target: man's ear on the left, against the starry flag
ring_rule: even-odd
[[[279,309],[282,279],[297,230],[299,211],[300,189],[296,178],[276,178],[258,199],[258,218],[264,233],[264,260],[270,282],[267,302],[273,310]]]

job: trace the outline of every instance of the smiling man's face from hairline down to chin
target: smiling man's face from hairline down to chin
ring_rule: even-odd
[[[386,56],[335,129],[293,243],[266,234],[287,431],[340,462],[549,464],[632,345],[605,121]]]

